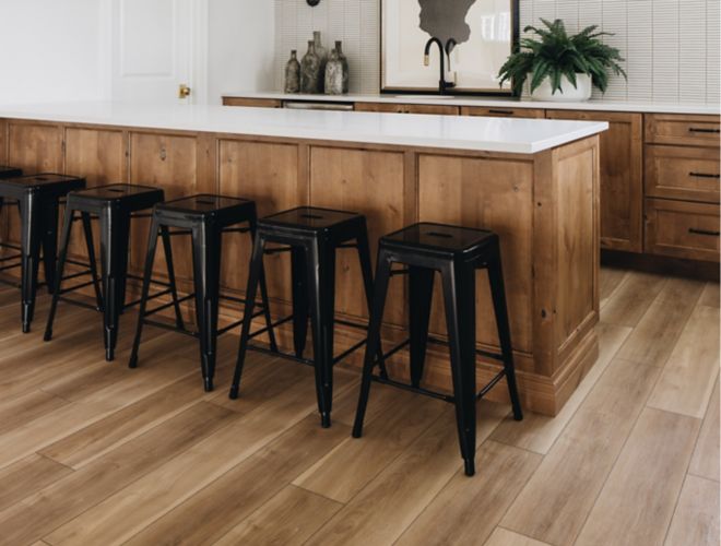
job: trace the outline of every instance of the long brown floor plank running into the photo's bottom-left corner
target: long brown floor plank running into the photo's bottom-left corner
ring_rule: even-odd
[[[43,538],[237,417],[211,404],[196,404],[0,512],[0,544],[15,546]]]

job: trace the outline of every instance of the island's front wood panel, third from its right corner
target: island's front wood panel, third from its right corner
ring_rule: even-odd
[[[256,201],[258,216],[293,209],[308,201],[302,187],[300,153],[294,144],[264,144],[222,140],[218,144],[218,192]],[[250,237],[224,237],[223,285],[245,292],[250,261]],[[265,257],[268,289],[272,298],[291,301],[288,254]]]

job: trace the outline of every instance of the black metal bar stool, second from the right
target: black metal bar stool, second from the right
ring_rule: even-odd
[[[355,244],[351,244],[354,241]],[[268,244],[283,248],[267,249]],[[335,319],[335,252],[342,248],[357,248],[363,273],[366,301],[370,305],[373,270],[368,249],[365,216],[352,212],[302,206],[268,216],[258,222],[258,233],[250,261],[247,302],[240,333],[238,361],[231,388],[231,399],[238,396],[245,363],[250,323],[258,283],[262,278],[263,254],[282,251],[292,253],[293,314],[272,327],[293,321],[295,358],[311,364],[316,371],[316,393],[321,425],[330,427],[333,403],[333,365],[365,345],[364,340],[339,356],[333,355],[333,327],[342,323],[365,329],[365,325]],[[306,335],[310,317],[314,359],[304,360]],[[286,355],[291,356],[291,355]]]

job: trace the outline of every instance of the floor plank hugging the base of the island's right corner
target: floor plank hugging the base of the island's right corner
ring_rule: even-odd
[[[527,412],[520,423],[508,416],[493,432],[492,439],[541,454],[546,454],[551,450],[560,432],[608,367],[618,348],[630,334],[631,329],[602,322],[596,327],[596,331],[599,333],[599,358],[568,399],[566,405],[558,412],[558,415],[548,417],[547,415]]]

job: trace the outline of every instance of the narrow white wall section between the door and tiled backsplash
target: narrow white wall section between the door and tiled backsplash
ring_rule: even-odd
[[[220,104],[223,93],[272,90],[275,75],[273,2],[209,1],[209,102]]]

